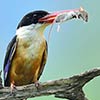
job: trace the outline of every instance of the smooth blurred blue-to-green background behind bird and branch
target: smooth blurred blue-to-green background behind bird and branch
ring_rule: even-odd
[[[0,69],[8,42],[14,36],[20,19],[27,12],[76,9],[83,6],[89,13],[89,21],[72,20],[61,25],[57,32],[54,25],[48,61],[40,81],[69,77],[92,68],[100,67],[100,1],[99,0],[12,0],[0,1]],[[45,30],[47,38],[50,26]],[[84,91],[89,100],[100,99],[100,77],[90,81]],[[53,96],[34,100],[61,100]]]

